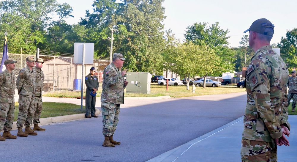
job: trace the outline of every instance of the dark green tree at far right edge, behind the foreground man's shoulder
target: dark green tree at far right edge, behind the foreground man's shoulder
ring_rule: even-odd
[[[277,46],[280,48],[281,56],[287,67],[292,69],[297,67],[297,29],[289,30],[286,37],[282,37]]]

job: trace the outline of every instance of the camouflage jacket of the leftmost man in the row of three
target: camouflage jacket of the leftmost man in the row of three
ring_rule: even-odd
[[[15,74],[6,69],[0,73],[0,102],[14,103]]]

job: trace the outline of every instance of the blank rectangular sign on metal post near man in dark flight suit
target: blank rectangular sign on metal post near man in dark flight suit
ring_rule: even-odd
[[[83,45],[84,59],[83,59]],[[93,64],[94,63],[94,43],[74,43],[73,62],[75,64]]]

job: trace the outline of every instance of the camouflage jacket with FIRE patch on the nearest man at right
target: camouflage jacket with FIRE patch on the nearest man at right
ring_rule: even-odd
[[[274,142],[287,122],[288,69],[271,46],[259,48],[247,69],[243,139]]]

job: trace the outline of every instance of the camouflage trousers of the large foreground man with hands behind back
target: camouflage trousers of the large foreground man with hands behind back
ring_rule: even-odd
[[[276,162],[277,145],[272,142],[241,140],[242,162]]]

